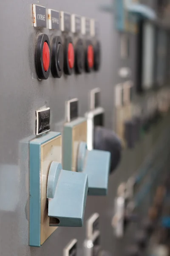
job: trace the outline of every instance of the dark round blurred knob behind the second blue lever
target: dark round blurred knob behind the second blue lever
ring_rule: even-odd
[[[111,153],[110,172],[113,172],[121,159],[122,145],[117,135],[102,126],[94,127],[94,149]]]

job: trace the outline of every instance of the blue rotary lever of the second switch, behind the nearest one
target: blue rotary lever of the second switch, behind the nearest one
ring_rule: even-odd
[[[79,143],[77,172],[88,175],[88,195],[107,195],[110,161],[110,152],[89,151],[85,142]]]

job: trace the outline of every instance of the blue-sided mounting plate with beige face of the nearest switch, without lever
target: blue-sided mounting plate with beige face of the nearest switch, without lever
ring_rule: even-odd
[[[51,162],[61,162],[61,145],[57,132],[30,141],[30,246],[40,247],[57,229],[49,226],[46,193]]]

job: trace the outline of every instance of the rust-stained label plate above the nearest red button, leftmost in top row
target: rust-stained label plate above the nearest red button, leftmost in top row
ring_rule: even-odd
[[[34,27],[46,28],[46,8],[33,4],[33,23]]]

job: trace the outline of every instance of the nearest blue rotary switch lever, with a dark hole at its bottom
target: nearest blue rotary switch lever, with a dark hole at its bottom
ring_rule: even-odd
[[[88,176],[62,169],[52,162],[47,182],[50,226],[82,227],[88,193]]]

